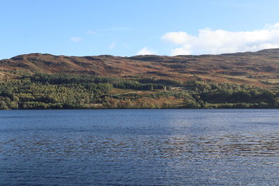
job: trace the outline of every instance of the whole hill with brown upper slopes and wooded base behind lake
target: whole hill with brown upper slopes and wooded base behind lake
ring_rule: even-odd
[[[0,61],[0,109],[279,109],[279,49]]]

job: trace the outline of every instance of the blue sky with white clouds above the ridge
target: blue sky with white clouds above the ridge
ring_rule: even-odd
[[[0,7],[0,59],[279,48],[279,1],[3,0]]]

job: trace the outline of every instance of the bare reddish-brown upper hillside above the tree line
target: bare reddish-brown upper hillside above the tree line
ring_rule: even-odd
[[[24,54],[0,61],[0,77],[15,71],[99,75],[102,77],[155,77],[204,79],[216,83],[273,86],[279,83],[279,49],[199,56],[54,56]]]

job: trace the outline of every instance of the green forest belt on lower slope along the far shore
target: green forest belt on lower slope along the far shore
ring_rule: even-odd
[[[0,81],[0,109],[279,108],[277,88],[203,79],[21,75]]]

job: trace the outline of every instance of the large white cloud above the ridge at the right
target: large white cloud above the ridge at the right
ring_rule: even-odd
[[[186,32],[169,32],[163,40],[177,45],[171,55],[222,54],[229,52],[255,52],[279,47],[279,23],[266,25],[254,31],[225,31],[200,29],[197,36]]]

